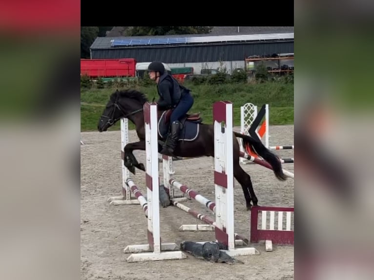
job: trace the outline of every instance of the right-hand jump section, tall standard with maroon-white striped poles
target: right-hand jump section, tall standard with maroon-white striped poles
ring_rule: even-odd
[[[171,201],[181,210],[203,220],[208,225],[182,225],[181,231],[214,230],[218,242],[225,244],[228,250],[222,250],[229,256],[258,255],[253,247],[236,248],[243,245],[244,238],[234,232],[234,179],[233,179],[233,110],[229,101],[217,101],[213,104],[214,121],[214,194],[215,202],[208,200],[185,185],[172,179],[174,171],[170,157],[163,156],[164,185],[169,190]],[[215,214],[215,221],[180,203],[175,196],[175,189],[205,205]],[[180,196],[179,196],[180,197]],[[248,240],[247,240],[248,242]],[[204,243],[204,242],[199,242]]]

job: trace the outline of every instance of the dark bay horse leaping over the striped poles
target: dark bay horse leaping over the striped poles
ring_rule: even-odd
[[[98,130],[100,132],[106,131],[110,126],[116,123],[121,118],[127,118],[133,122],[136,126],[136,133],[139,141],[128,143],[125,146],[124,152],[124,164],[126,168],[133,174],[135,174],[135,167],[145,171],[143,163],[139,163],[132,151],[143,150],[145,151],[145,127],[144,127],[144,114],[143,105],[148,102],[146,96],[136,90],[121,90],[111,94],[109,101],[106,104],[104,112],[100,117],[98,123]],[[158,120],[163,118],[166,114],[165,111],[158,112]],[[187,116],[186,116],[187,117]],[[214,126],[213,124],[205,124],[199,119],[197,115],[188,115],[190,120],[182,120],[188,133],[194,135],[193,139],[180,140],[174,151],[176,157],[214,157]],[[162,123],[162,121],[160,121]],[[189,128],[188,128],[189,127]],[[198,129],[197,129],[198,127]],[[182,129],[183,131],[183,129]],[[160,127],[159,127],[160,132]],[[196,133],[194,133],[196,132]],[[163,138],[159,135],[159,140]],[[239,142],[236,137],[243,139],[243,145],[249,146],[256,154],[268,161],[274,171],[275,177],[278,180],[286,180],[287,177],[282,171],[282,165],[279,158],[268,150],[261,141],[255,140],[250,136],[243,135],[237,132],[233,133],[233,169],[234,177],[240,183],[243,189],[244,197],[246,200],[247,210],[251,207],[251,201],[253,205],[257,205],[257,197],[254,193],[252,181],[250,176],[242,169],[239,163]],[[181,137],[181,139],[184,139]],[[159,151],[161,151],[161,145],[159,144]]]

